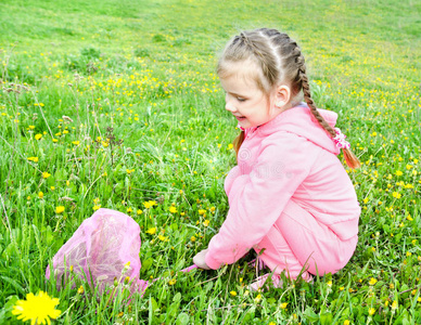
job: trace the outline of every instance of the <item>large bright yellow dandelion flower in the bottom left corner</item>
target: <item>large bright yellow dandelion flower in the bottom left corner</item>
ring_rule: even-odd
[[[39,291],[37,296],[33,292],[26,295],[26,300],[17,300],[13,307],[12,314],[23,322],[30,324],[51,324],[50,318],[56,318],[62,313],[55,309],[60,300],[51,298],[47,292]]]

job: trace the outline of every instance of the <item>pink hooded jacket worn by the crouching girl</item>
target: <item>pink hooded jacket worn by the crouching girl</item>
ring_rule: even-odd
[[[335,113],[319,112],[329,125],[335,125]],[[238,166],[225,181],[230,208],[210,239],[205,258],[209,268],[233,263],[257,245],[290,199],[340,239],[357,235],[360,207],[336,157],[340,150],[305,103],[245,132]]]

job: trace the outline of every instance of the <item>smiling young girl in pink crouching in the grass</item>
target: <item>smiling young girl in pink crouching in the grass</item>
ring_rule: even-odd
[[[350,168],[359,161],[334,128],[337,115],[316,108],[299,47],[276,29],[243,31],[217,73],[241,129],[238,166],[225,181],[227,219],[194,263],[218,269],[254,248],[275,286],[282,271],[307,281],[337,272],[357,245],[360,207],[336,155],[342,148]]]

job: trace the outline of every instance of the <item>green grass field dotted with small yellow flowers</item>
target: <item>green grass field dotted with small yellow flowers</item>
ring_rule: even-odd
[[[43,290],[56,324],[420,324],[420,17],[414,0],[1,0],[0,323]],[[228,211],[218,52],[263,26],[298,41],[316,103],[339,113],[362,213],[345,269],[248,292],[251,258],[177,271]],[[139,223],[140,276],[162,278],[129,304],[44,278],[99,207]]]

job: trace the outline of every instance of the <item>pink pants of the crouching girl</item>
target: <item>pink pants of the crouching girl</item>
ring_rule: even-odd
[[[265,249],[259,258],[273,273],[285,270],[286,275],[296,278],[304,270],[303,277],[308,278],[308,273],[324,275],[344,268],[357,242],[357,235],[341,240],[327,225],[290,200],[256,251]]]

